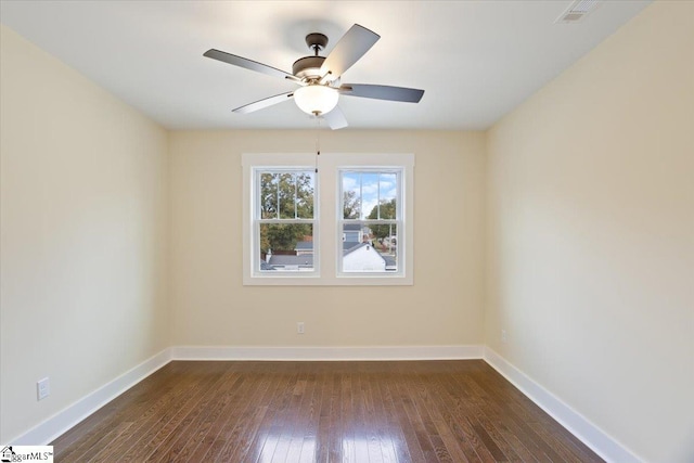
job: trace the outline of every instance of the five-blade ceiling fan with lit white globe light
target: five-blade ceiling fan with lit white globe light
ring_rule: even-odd
[[[347,127],[347,119],[337,107],[340,94],[408,103],[419,103],[424,94],[424,90],[403,87],[369,83],[340,85],[343,73],[359,61],[380,38],[381,36],[377,34],[355,24],[339,39],[327,56],[320,56],[318,53],[325,49],[327,37],[320,33],[309,34],[306,36],[306,44],[313,51],[313,55],[304,56],[294,62],[292,74],[215,49],[207,50],[203,55],[234,66],[292,80],[299,86],[294,91],[236,107],[233,110],[234,113],[252,113],[294,99],[301,111],[316,117],[322,117],[327,121],[330,128],[335,130]]]

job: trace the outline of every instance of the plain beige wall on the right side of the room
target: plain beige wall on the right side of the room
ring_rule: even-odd
[[[504,117],[487,169],[487,344],[645,461],[691,462],[694,2]]]

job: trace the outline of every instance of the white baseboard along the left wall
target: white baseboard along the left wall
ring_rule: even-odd
[[[5,443],[15,446],[48,445],[170,361],[171,350],[169,348],[164,349],[20,437],[12,439],[12,442]]]

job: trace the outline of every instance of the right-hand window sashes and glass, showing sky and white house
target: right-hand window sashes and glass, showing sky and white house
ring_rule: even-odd
[[[397,235],[403,221],[402,169],[344,168],[338,181],[338,273],[400,274]]]

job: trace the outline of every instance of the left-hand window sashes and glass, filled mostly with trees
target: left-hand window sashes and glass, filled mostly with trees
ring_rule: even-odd
[[[254,177],[255,273],[314,272],[316,172],[265,167]]]

